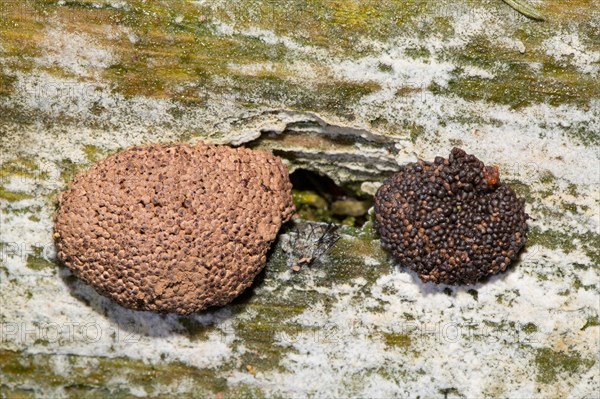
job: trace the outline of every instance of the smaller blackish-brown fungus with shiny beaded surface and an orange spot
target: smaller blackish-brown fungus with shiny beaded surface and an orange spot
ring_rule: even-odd
[[[424,282],[474,284],[506,270],[526,242],[525,200],[473,155],[408,164],[375,195],[382,246]]]

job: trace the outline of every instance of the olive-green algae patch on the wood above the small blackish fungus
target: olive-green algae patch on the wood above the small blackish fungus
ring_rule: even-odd
[[[544,29],[543,24],[524,25],[515,30],[514,36],[527,49],[524,53],[503,48],[486,34],[475,36],[464,49],[451,54],[458,68],[448,86],[434,85],[432,90],[437,94],[455,94],[466,100],[483,100],[517,109],[536,103],[589,107],[589,101],[597,96],[598,81],[546,54],[540,47],[551,34],[553,31]],[[531,63],[541,64],[542,73],[531,68]],[[494,79],[465,76],[463,67],[466,66],[490,71]],[[591,131],[579,132],[577,136],[586,145],[593,141]]]

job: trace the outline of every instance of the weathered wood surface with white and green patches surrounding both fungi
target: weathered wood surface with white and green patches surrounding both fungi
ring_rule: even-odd
[[[262,280],[247,295],[220,311],[187,318],[123,313],[72,276],[61,280],[47,273],[50,269],[28,269],[27,257],[17,262],[4,256],[2,322],[38,323],[46,313],[64,320],[72,312],[107,326],[117,326],[119,317],[131,319],[136,328],[164,327],[162,333],[171,335],[164,340],[144,336],[130,359],[113,358],[120,349],[109,341],[106,350],[72,355],[68,362],[75,366],[66,369],[60,354],[2,357],[2,352],[0,363],[12,368],[0,366],[0,396],[56,389],[72,397],[158,397],[173,395],[179,386],[180,394],[190,397],[273,397],[278,392],[362,397],[374,396],[373,390],[380,396],[504,397],[522,393],[524,383],[536,378],[539,385],[526,394],[568,391],[585,397],[589,387],[597,388],[586,360],[593,357],[588,348],[598,328],[588,305],[597,297],[594,265],[600,259],[598,235],[588,228],[595,191],[580,181],[585,176],[575,155],[589,155],[598,142],[592,106],[600,88],[594,79],[600,37],[588,0],[571,1],[568,10],[560,2],[536,2],[547,17],[543,23],[522,17],[501,0],[8,3],[0,19],[0,136],[8,139],[0,147],[16,153],[15,161],[1,169],[6,191],[0,191],[0,205],[8,226],[3,233],[12,237],[21,231],[32,240],[50,237],[53,196],[77,171],[110,151],[141,142],[229,143],[237,140],[230,133],[235,129],[259,134],[248,145],[277,152],[290,170],[312,167],[327,173],[357,197],[365,194],[363,183],[376,184],[412,155],[447,145],[476,147],[506,163],[539,165],[532,173],[510,175],[509,184],[526,198],[535,219],[522,267],[476,292],[436,290],[412,281],[380,250],[369,220],[362,227],[341,228],[342,238],[323,261],[298,272],[290,270],[290,253],[278,243]],[[60,52],[65,43],[71,53]],[[98,54],[107,57],[90,62]],[[40,96],[40,87],[54,84],[84,94],[93,87],[93,96]],[[413,97],[418,101],[411,102]],[[346,126],[360,131],[321,134],[324,125],[313,118],[307,133],[307,118],[287,123],[287,113],[273,123],[250,120],[261,113],[268,119],[274,110],[304,110],[335,125],[333,131]],[[571,116],[581,121],[563,125]],[[515,140],[515,153],[505,156],[508,140]],[[32,148],[36,145],[40,148]],[[56,156],[47,151],[54,146],[61,149]],[[17,153],[37,150],[55,163],[46,175],[37,154],[21,156],[33,164],[18,160]],[[569,160],[574,155],[577,159]],[[36,181],[35,198],[21,196],[30,194],[25,186]],[[312,212],[303,217],[332,217],[313,193],[297,194],[298,204]],[[287,235],[284,231],[282,241]],[[47,266],[45,259],[51,261],[34,254],[29,265]],[[36,313],[41,308],[36,301],[46,301],[48,290],[55,290],[50,295],[57,301]],[[27,316],[20,316],[22,309],[30,309]],[[525,325],[516,320],[522,314],[528,314]],[[427,329],[461,316],[479,323],[482,331],[453,343],[465,362],[436,366],[448,342]],[[336,335],[338,342],[322,339],[330,338],[331,331],[319,324],[325,322],[346,335]],[[367,332],[348,332],[345,323],[355,322]],[[425,332],[395,328],[407,322],[424,324]],[[524,348],[508,332],[552,349]],[[219,334],[232,353],[227,360],[207,367],[184,364],[201,358],[198,348]],[[490,334],[510,339],[490,342]],[[555,349],[556,336],[579,349]],[[162,360],[139,360],[171,342],[177,345]],[[29,352],[85,350],[66,344],[36,340]],[[470,355],[483,371],[479,390],[470,383]],[[372,359],[378,363],[369,363]],[[346,378],[345,370],[352,376]],[[503,379],[506,375],[511,378]],[[327,386],[315,385],[321,376]]]

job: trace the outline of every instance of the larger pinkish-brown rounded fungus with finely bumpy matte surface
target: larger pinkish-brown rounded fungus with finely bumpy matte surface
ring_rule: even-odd
[[[131,309],[229,303],[261,271],[294,211],[271,154],[197,144],[133,147],[77,176],[54,219],[58,257]]]

